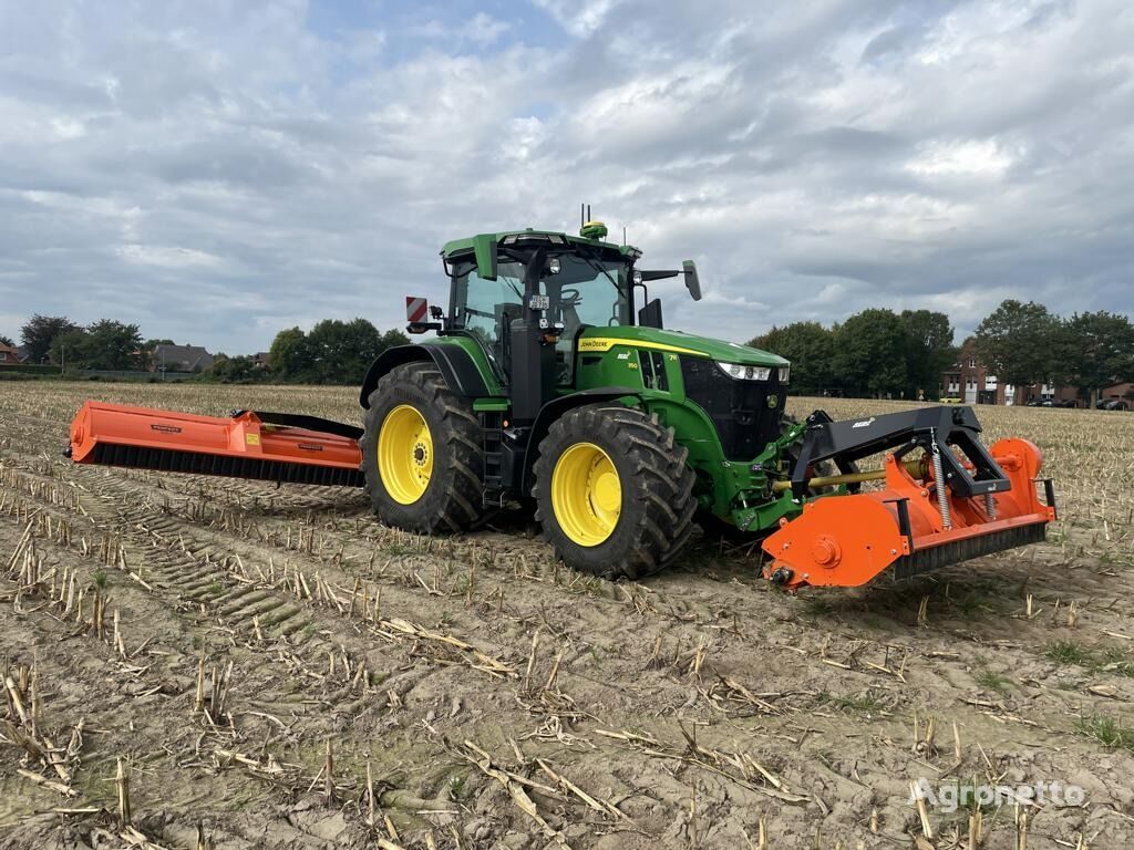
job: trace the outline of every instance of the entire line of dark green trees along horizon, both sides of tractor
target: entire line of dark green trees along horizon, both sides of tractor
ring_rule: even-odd
[[[172,345],[144,339],[136,324],[103,318],[79,325],[39,314],[20,329],[20,340],[28,363],[74,369],[150,371],[156,347]],[[14,345],[5,337],[0,342]],[[219,354],[201,377],[358,384],[382,351],[408,342],[401,331],[379,331],[365,318],[327,318],[306,332],[276,334],[266,367],[253,356]],[[748,345],[792,360],[794,390],[816,394],[931,399],[958,358],[949,317],[928,309],[870,308],[830,326],[794,322]],[[1001,383],[1072,385],[1092,400],[1102,388],[1134,380],[1134,324],[1106,311],[1061,317],[1042,304],[1005,300],[978,325],[973,351]]]

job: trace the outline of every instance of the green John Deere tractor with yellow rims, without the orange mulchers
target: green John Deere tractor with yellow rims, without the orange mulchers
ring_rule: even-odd
[[[759,530],[798,511],[763,495],[782,471],[788,362],[665,330],[646,284],[683,275],[699,299],[694,264],[640,269],[606,236],[587,222],[445,246],[448,311],[409,325],[437,335],[387,350],[359,396],[384,522],[462,532],[534,502],[564,562],[633,578],[672,561],[699,517]]]

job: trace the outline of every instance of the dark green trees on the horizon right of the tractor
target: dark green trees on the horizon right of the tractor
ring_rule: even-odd
[[[1134,323],[1107,311],[1061,317],[1042,304],[1008,299],[972,338],[976,359],[1001,383],[1070,385],[1094,400],[1134,380]],[[830,328],[795,322],[750,340],[792,360],[797,392],[933,398],[941,373],[957,363],[943,313],[864,309]]]

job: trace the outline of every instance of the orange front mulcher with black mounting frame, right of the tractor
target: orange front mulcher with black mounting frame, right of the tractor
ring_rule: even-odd
[[[833,461],[850,482],[846,495],[826,495],[782,520],[764,551],[764,575],[777,584],[855,587],[889,567],[897,577],[945,567],[1044,538],[1056,518],[1043,456],[1026,440],[1000,440],[987,450],[970,408],[923,408],[869,419],[807,419],[792,486],[806,492],[807,470]],[[923,457],[906,459],[915,450]],[[885,485],[861,492],[856,461],[883,453]],[[875,477],[875,476],[870,476]],[[837,481],[833,476],[828,481]],[[823,479],[820,479],[823,481]],[[1042,483],[1046,503],[1036,493]]]

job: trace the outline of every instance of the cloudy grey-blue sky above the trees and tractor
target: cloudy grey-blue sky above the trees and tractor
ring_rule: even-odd
[[[1134,313],[1131,44],[1126,0],[0,0],[0,334],[401,326],[445,241],[581,202],[713,337]]]

